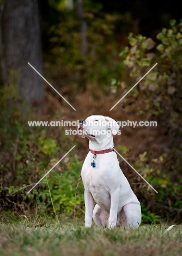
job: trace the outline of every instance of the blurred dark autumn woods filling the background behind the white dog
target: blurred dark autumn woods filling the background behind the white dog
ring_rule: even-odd
[[[102,114],[119,121],[157,121],[157,127],[124,127],[114,143],[159,192],[155,194],[119,159],[141,201],[143,222],[181,222],[178,1],[4,0],[0,6],[1,211],[27,214],[37,207],[40,213],[52,214],[46,181],[32,194],[26,192],[44,175],[44,168],[50,170],[76,144],[48,176],[57,214],[72,217],[88,141],[66,136],[67,127],[30,127],[27,121],[74,121]],[[156,62],[153,71],[110,111]],[[82,217],[81,183],[76,205],[77,217]]]

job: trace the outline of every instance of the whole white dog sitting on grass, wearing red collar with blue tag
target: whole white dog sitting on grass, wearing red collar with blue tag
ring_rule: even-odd
[[[84,160],[81,176],[84,185],[85,226],[138,228],[141,206],[119,167],[113,151],[113,137],[119,125],[112,118],[92,115],[80,120],[78,132],[89,139],[90,152]],[[94,200],[96,205],[94,207]]]

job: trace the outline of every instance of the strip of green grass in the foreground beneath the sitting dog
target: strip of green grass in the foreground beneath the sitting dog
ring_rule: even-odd
[[[143,225],[137,230],[84,228],[83,221],[61,222],[47,217],[0,223],[0,255],[114,256],[181,255],[182,226]]]

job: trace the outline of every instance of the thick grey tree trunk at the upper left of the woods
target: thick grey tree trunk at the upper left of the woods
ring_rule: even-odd
[[[4,0],[2,41],[6,72],[18,73],[21,96],[29,103],[43,102],[43,74],[37,0]]]

